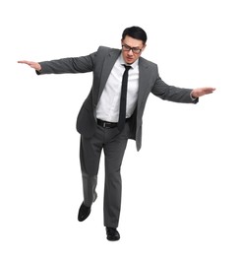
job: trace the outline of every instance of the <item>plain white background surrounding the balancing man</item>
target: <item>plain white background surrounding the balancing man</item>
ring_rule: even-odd
[[[5,3],[3,3],[5,2]],[[9,0],[0,4],[0,254],[238,255],[237,6],[232,0]],[[120,47],[148,32],[143,56],[168,84],[215,87],[193,104],[149,96],[143,148],[122,166],[121,240],[106,240],[98,199],[83,200],[76,117],[91,74],[36,76],[18,60]]]

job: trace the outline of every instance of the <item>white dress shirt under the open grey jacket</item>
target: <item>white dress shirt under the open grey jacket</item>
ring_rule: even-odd
[[[126,118],[131,117],[136,108],[139,89],[139,60],[131,65],[128,73]],[[106,82],[105,88],[96,106],[96,118],[107,122],[118,122],[122,87],[122,76],[126,64],[119,56]]]

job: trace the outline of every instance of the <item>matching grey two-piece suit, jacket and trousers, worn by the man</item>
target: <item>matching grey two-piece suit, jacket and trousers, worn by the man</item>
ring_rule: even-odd
[[[193,100],[191,98],[191,89],[182,89],[166,85],[158,75],[157,65],[140,57],[137,107],[131,118],[129,118],[122,133],[118,133],[115,129],[107,129],[107,131],[104,131],[102,127],[98,127],[96,123],[95,108],[105,87],[108,76],[120,53],[121,50],[119,49],[100,46],[96,52],[93,52],[88,56],[40,62],[42,69],[40,73],[37,72],[37,74],[93,72],[93,81],[89,96],[83,103],[77,118],[77,130],[82,135],[81,166],[83,173],[84,197],[86,205],[89,206],[96,198],[95,186],[100,152],[101,149],[107,145],[103,148],[107,158],[105,162],[107,169],[106,173],[109,173],[106,175],[105,183],[107,184],[105,184],[104,191],[104,224],[113,227],[117,227],[120,214],[121,162],[128,139],[136,140],[137,150],[139,151],[141,149],[142,120],[149,93],[162,99],[175,102],[198,102],[198,99]],[[99,146],[99,140],[105,135],[104,132],[106,132],[108,140]],[[111,143],[112,138],[113,140],[114,138],[117,139]],[[123,141],[123,143],[120,143],[120,141]],[[96,148],[95,150],[95,147],[100,147],[100,149]],[[112,156],[110,152],[113,151],[115,154]],[[109,176],[112,179],[111,183],[108,181]]]

